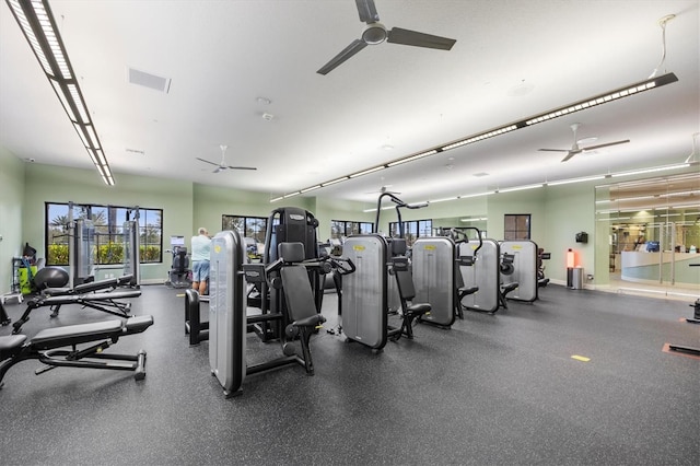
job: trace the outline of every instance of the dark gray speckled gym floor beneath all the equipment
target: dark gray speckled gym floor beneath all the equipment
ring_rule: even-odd
[[[132,313],[155,324],[108,351],[144,349],[145,380],[13,366],[0,391],[0,464],[700,464],[700,360],[662,351],[700,346],[682,301],[550,286],[534,304],[467,312],[447,330],[417,325],[415,340],[378,353],[322,330],[314,376],[299,365],[250,375],[226,399],[208,342],[185,337],[183,290],[142,291]],[[327,328],[336,305],[326,294]],[[24,311],[5,307],[13,319]],[[23,330],[105,318],[39,308]],[[248,336],[250,363],[280,354]]]

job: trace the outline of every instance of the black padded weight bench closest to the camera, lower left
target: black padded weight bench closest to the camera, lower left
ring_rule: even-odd
[[[108,354],[103,351],[120,337],[140,334],[152,324],[153,317],[144,315],[126,322],[112,319],[47,328],[32,339],[26,335],[0,337],[0,388],[8,370],[27,359],[37,359],[46,364],[35,371],[36,375],[58,366],[110,369],[135,371],[133,377],[140,381],[145,377],[145,351],[140,350],[137,354]],[[94,343],[78,348],[78,345],[90,342]]]

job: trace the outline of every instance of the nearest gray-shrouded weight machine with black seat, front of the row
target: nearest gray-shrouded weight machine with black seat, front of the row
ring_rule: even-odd
[[[308,347],[311,335],[325,321],[315,304],[314,290],[304,261],[302,243],[281,243],[270,265],[246,264],[245,244],[237,231],[218,233],[211,245],[209,301],[209,363],[211,373],[223,387],[226,397],[242,393],[247,375],[288,364],[301,364],[306,374],[314,368]],[[283,356],[249,365],[246,363],[245,277],[265,279],[270,288],[283,294],[280,313],[256,316],[283,324],[280,337]],[[293,340],[299,338],[302,356],[296,354]]]

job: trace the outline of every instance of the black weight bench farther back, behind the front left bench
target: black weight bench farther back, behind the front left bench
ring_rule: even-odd
[[[27,301],[26,310],[22,317],[12,326],[13,334],[19,334],[24,323],[30,319],[30,314],[37,307],[50,307],[51,317],[58,316],[62,305],[79,304],[83,307],[91,307],[118,317],[130,317],[130,302],[120,302],[128,298],[138,298],[141,290],[133,288],[118,288],[125,281],[128,282],[131,276],[113,278],[90,283],[79,284],[72,289],[47,288],[42,294]],[[104,291],[107,290],[107,291]],[[100,291],[100,292],[98,292]]]

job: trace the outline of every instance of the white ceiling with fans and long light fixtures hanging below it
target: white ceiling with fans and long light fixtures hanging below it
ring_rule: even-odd
[[[92,168],[2,3],[0,145]],[[327,75],[316,70],[363,30],[352,0],[50,5],[117,184],[140,174],[270,197],[643,81],[661,60],[658,20],[676,15],[658,70],[676,83],[308,193],[371,203],[383,185],[411,202],[682,162],[700,130],[699,3],[376,0],[387,28],[455,46],[370,46]],[[129,68],[172,79],[170,91],[129,83]],[[573,123],[579,139],[631,142],[565,163],[537,151],[571,147]],[[213,174],[196,160],[219,162],[222,143],[228,164],[258,170]]]

